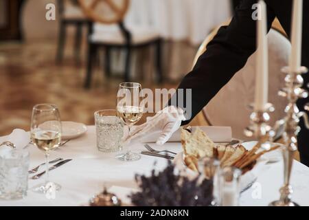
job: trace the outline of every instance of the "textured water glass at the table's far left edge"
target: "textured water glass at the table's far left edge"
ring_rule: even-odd
[[[22,199],[27,195],[29,158],[25,150],[0,153],[0,199]]]

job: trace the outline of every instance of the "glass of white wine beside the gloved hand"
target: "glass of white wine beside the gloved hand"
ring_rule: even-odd
[[[117,94],[117,115],[128,126],[128,133],[133,124],[137,123],[144,112],[142,106],[141,85],[139,83],[121,83]],[[133,153],[128,148],[126,153],[116,156],[122,161],[136,161],[141,158],[138,153]]]

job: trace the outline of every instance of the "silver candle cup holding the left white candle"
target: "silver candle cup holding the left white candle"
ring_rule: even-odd
[[[249,106],[252,109],[252,113],[250,115],[251,124],[244,130],[244,134],[247,137],[256,137],[258,140],[258,147],[262,147],[268,149],[270,146],[264,145],[270,137],[273,137],[274,131],[272,127],[268,125],[269,120],[271,119],[269,113],[275,111],[273,104],[267,103],[262,110],[254,110],[254,105],[251,104]]]

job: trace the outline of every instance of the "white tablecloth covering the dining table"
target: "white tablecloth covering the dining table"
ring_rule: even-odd
[[[3,137],[0,137],[4,140]],[[157,146],[157,148],[160,148]],[[161,148],[172,151],[181,151],[180,143],[168,143]],[[30,166],[35,166],[44,161],[43,153],[34,146],[28,147],[30,151]],[[144,150],[142,144],[133,144],[134,151]],[[135,173],[150,173],[154,162],[157,168],[163,168],[166,159],[142,155],[137,162],[121,162],[114,158],[115,153],[100,153],[95,144],[95,127],[89,126],[86,135],[71,140],[51,155],[51,159],[63,157],[73,159],[71,162],[53,170],[50,175],[52,181],[62,186],[57,192],[56,199],[47,199],[44,195],[28,191],[25,199],[17,201],[0,201],[0,206],[82,206],[89,199],[106,186],[122,186],[135,188],[133,180]],[[282,186],[282,162],[269,164],[258,178],[254,188],[242,193],[240,204],[242,206],[266,206],[269,202],[279,198],[279,186]],[[31,188],[40,180],[30,180]],[[293,166],[292,184],[294,186],[293,199],[301,206],[309,206],[309,168],[295,162]],[[260,191],[259,191],[260,190]],[[260,193],[261,192],[261,193]],[[119,192],[121,194],[121,192]]]

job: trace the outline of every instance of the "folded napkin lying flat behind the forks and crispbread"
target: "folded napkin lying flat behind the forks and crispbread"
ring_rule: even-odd
[[[230,126],[198,126],[202,129],[209,138],[214,142],[231,142],[232,131]],[[196,126],[192,126],[192,131],[196,129]],[[159,131],[157,133],[149,133],[141,138],[141,142],[144,143],[154,143],[157,142],[157,137],[159,136]],[[180,142],[181,141],[181,129],[177,130],[168,142]]]

